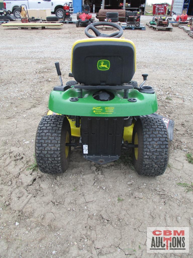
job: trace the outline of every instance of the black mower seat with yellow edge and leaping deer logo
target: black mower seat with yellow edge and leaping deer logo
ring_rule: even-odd
[[[135,45],[128,39],[89,38],[72,47],[71,70],[79,83],[121,85],[131,81],[135,68]]]

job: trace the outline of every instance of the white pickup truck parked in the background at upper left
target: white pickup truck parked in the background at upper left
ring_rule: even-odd
[[[19,7],[22,4],[27,6],[27,9],[51,9],[51,13],[55,13],[59,18],[63,18],[64,4],[69,4],[70,12],[74,11],[73,2],[72,1],[64,1],[64,0],[9,0],[4,1],[6,3],[7,13],[13,15],[16,18],[20,18]]]

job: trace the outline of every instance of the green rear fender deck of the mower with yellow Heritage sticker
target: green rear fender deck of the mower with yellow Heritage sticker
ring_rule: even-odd
[[[141,93],[136,89],[129,90],[128,98],[137,99],[129,102],[123,99],[123,90],[108,90],[115,95],[110,101],[95,100],[92,95],[98,90],[83,90],[83,98],[78,101],[70,101],[77,98],[77,89],[73,86],[67,91],[51,91],[48,107],[55,113],[72,116],[142,116],[157,111],[156,94]]]

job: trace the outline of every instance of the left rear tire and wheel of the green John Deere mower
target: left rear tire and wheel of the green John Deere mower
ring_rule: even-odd
[[[35,141],[36,161],[41,172],[58,174],[66,171],[71,155],[71,147],[66,143],[71,143],[71,127],[66,116],[42,117]]]

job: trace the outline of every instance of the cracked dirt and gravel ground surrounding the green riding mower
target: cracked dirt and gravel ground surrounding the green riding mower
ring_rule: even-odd
[[[84,28],[0,26],[1,258],[192,257],[193,192],[177,183],[192,182],[186,154],[193,152],[193,39],[179,28],[124,31],[124,37],[136,45],[134,80],[140,83],[142,73],[149,74],[158,113],[175,122],[169,165],[155,178],[139,176],[128,153],[97,165],[72,150],[65,174],[27,170],[49,93],[59,85],[54,62],[60,62],[63,81],[70,80],[71,48],[85,38]],[[146,230],[153,226],[189,227],[190,253],[147,254]]]

